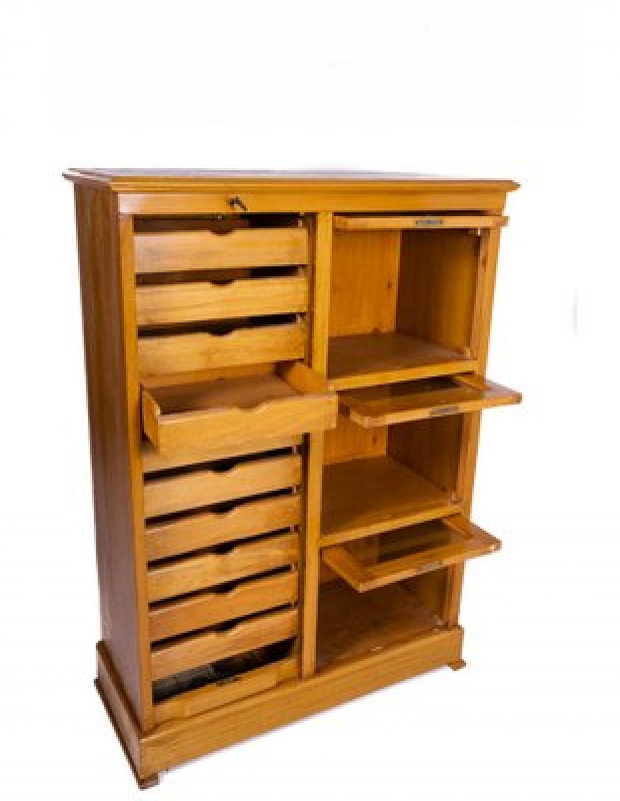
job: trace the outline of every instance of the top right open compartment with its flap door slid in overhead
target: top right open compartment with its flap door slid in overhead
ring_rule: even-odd
[[[356,388],[476,368],[483,215],[338,216],[328,376]]]

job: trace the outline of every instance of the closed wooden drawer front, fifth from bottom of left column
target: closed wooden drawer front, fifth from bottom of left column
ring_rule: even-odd
[[[146,526],[146,560],[178,556],[222,542],[292,529],[302,521],[298,493],[246,501],[226,512],[203,512]]]

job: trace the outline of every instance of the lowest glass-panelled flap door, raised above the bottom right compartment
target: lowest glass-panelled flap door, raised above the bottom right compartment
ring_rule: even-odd
[[[365,541],[363,555],[346,545],[323,549],[323,561],[359,593],[493,553],[501,543],[459,514],[397,529]]]

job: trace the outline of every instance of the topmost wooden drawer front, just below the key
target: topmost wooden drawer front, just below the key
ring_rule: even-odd
[[[308,263],[305,228],[162,231],[134,235],[138,275]]]

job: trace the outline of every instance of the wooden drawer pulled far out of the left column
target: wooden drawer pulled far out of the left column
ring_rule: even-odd
[[[222,449],[334,428],[338,397],[304,364],[198,384],[142,388],[142,427],[161,452]]]

